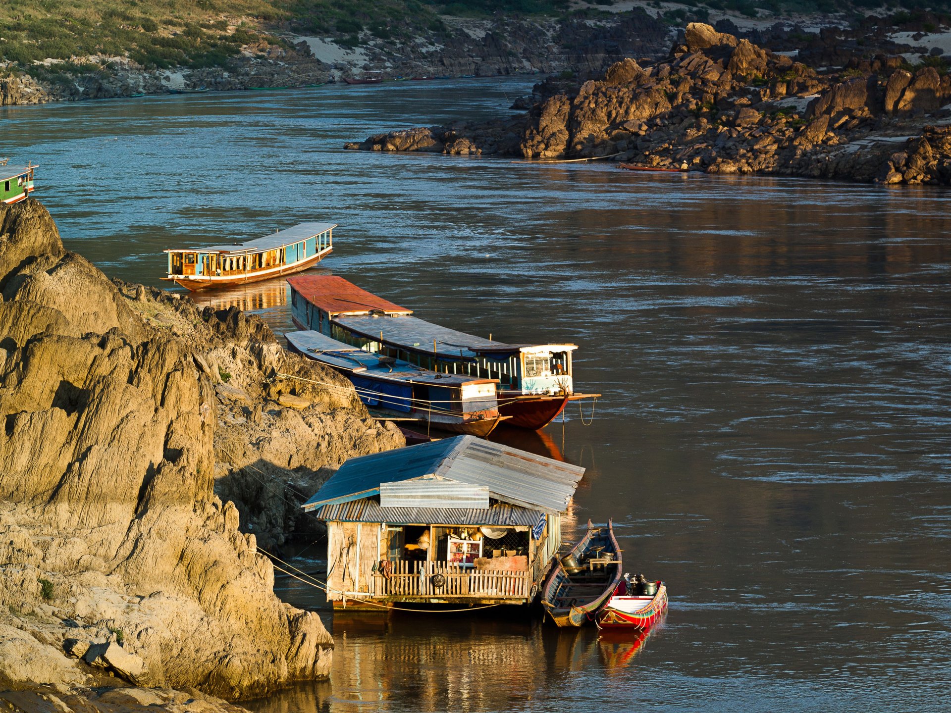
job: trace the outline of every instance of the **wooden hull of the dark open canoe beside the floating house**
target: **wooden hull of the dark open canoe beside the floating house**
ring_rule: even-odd
[[[621,583],[621,549],[614,537],[611,521],[608,522],[607,533],[600,528],[594,528],[591,520],[588,521],[588,532],[569,553],[579,561],[582,556],[592,550],[597,544],[604,543],[604,551],[613,553],[613,561],[604,567],[610,574],[606,574],[602,581],[586,584],[583,581],[572,580],[565,570],[561,560],[557,560],[545,580],[541,592],[542,606],[545,613],[556,626],[584,626],[592,623],[598,612],[604,607],[611,595],[617,591]],[[587,588],[587,589],[586,589]],[[581,591],[577,596],[574,590]],[[567,594],[563,593],[567,592]]]

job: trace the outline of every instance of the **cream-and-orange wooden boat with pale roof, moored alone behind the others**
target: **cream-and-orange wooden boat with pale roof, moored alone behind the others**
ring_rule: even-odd
[[[257,282],[313,267],[334,248],[332,222],[301,222],[253,241],[170,248],[168,275],[189,290]]]

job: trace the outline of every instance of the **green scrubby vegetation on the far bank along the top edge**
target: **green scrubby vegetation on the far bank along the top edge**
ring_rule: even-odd
[[[887,3],[887,5],[886,5]],[[757,16],[788,11],[885,14],[896,29],[935,31],[951,25],[951,0],[682,0],[680,9],[646,2],[664,11],[668,24],[706,20],[710,11]],[[607,17],[620,0],[37,0],[0,3],[0,60],[38,77],[76,75],[128,57],[147,69],[222,67],[242,49],[263,52],[288,47],[289,34],[330,36],[344,46],[376,40],[409,41],[447,31],[447,15]],[[624,3],[623,7],[629,7]],[[37,63],[45,63],[39,66]]]

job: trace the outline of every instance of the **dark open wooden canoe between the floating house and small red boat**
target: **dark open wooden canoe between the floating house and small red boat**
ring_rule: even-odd
[[[545,612],[557,626],[593,622],[621,582],[621,549],[611,521],[588,531],[571,552],[558,560],[541,590]]]

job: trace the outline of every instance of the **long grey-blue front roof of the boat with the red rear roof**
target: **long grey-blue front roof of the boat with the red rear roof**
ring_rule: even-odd
[[[440,357],[474,358],[485,354],[570,352],[577,349],[574,344],[506,344],[410,316],[345,316],[334,321],[364,337],[378,338],[382,332],[383,341]]]

